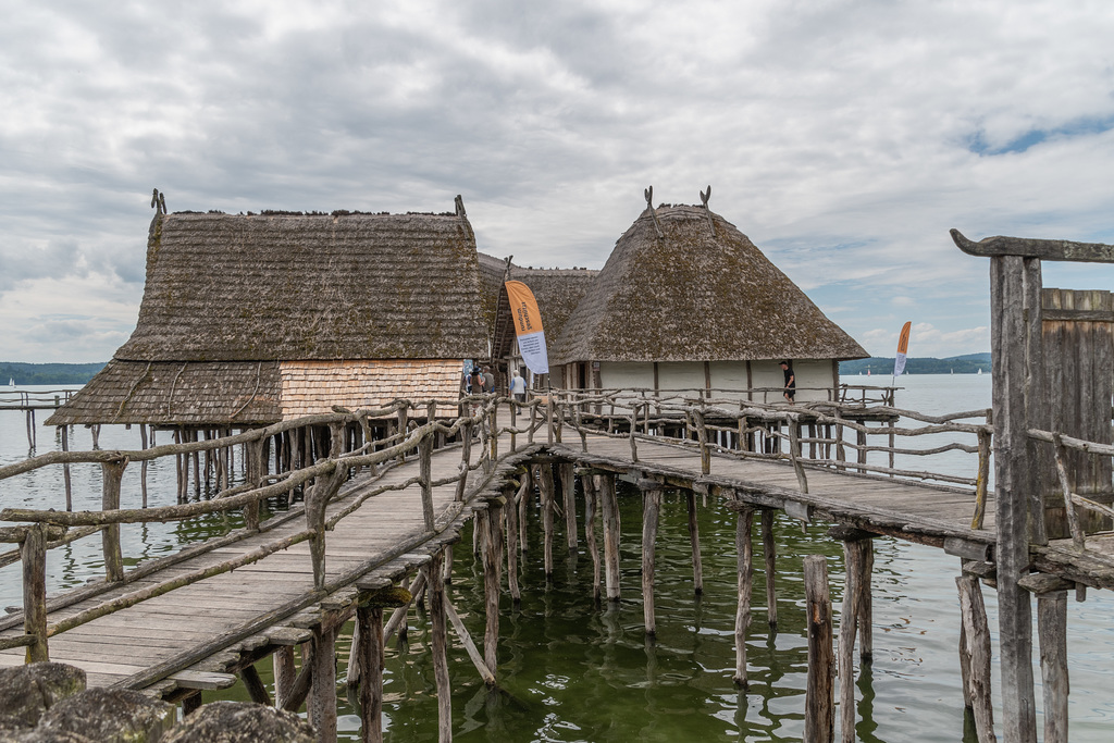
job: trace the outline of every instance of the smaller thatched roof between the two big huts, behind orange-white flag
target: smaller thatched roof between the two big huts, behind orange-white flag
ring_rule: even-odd
[[[587,294],[598,271],[590,268],[526,268],[510,264],[507,276],[506,258],[496,258],[483,253],[480,256],[480,285],[483,293],[485,316],[489,320],[491,333],[491,355],[499,359],[510,353],[515,338],[515,326],[510,317],[510,305],[504,281],[520,281],[530,287],[538,302],[546,341],[551,348],[561,334],[573,310]]]

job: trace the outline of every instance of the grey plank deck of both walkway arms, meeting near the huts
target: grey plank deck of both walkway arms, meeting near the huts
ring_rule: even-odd
[[[524,438],[520,437],[520,440]],[[707,492],[713,497],[724,498],[729,506],[734,501],[736,506],[747,502],[786,509],[793,515],[849,524],[937,547],[942,547],[949,538],[976,547],[995,541],[993,505],[988,507],[987,528],[974,530],[969,526],[974,496],[954,488],[810,469],[810,492],[802,493],[792,467],[785,463],[715,453],[712,457],[711,472],[701,475],[701,457],[695,447],[639,439],[638,460],[634,461],[626,439],[588,436],[586,452],[582,451],[576,431],[564,431],[564,443],[548,447],[520,447],[515,456],[500,460],[490,475],[473,471],[469,476],[469,496],[466,499],[469,506],[459,514],[452,510],[456,485],[436,487],[433,502],[437,517],[442,519],[450,516],[452,524],[449,530],[459,530],[470,517],[470,509],[483,508],[483,498],[498,495],[504,478],[514,471],[518,462],[544,449],[551,456],[580,466],[628,476],[636,473],[636,477],[656,478],[666,486]],[[509,450],[508,436],[500,438],[499,450]],[[439,450],[434,452],[432,462],[434,480],[452,477],[459,472],[460,450]],[[853,468],[853,462],[849,462],[849,467]],[[402,483],[413,478],[417,470],[417,459],[412,459],[377,478],[363,476],[353,480],[346,486],[343,497],[330,506],[329,516],[369,489]],[[52,612],[48,622],[57,623],[106,600],[247,554],[261,545],[276,541],[304,528],[303,517],[290,517],[268,531],[186,559],[140,580]],[[391,550],[405,545],[408,540],[420,538],[424,530],[418,485],[368,499],[362,507],[342,519],[334,530],[328,532],[326,581],[365,575],[373,573],[373,568],[380,577],[402,576],[428,557],[421,553],[420,545],[401,551],[395,549],[398,554]],[[1102,563],[1102,551],[1110,544],[1102,540],[1096,544],[1105,547],[1100,547],[1097,556],[1087,559]],[[1068,575],[1071,566],[1078,563],[1077,556],[1062,546],[1051,546],[1048,551],[1059,556],[1061,563],[1056,569],[1061,575]],[[1106,549],[1106,554],[1114,555],[1114,549]],[[380,559],[379,565],[369,565],[372,557],[382,558],[384,555],[387,557]],[[1107,557],[1106,560],[1110,563],[1111,583],[1102,587],[1114,587],[1114,557]],[[1094,565],[1089,567],[1093,569]],[[349,586],[352,584],[354,578],[349,581]],[[350,590],[349,600],[353,594],[354,590]],[[283,616],[272,617],[250,636],[233,638],[207,661],[190,663],[188,669],[175,672],[165,680],[139,684],[169,695],[175,688],[199,687],[190,686],[195,682],[188,677],[189,672],[235,671],[240,653],[293,644],[292,637],[296,637],[297,633],[291,628],[302,628],[304,635],[305,628],[320,623],[322,603],[323,597],[313,593],[309,542],[301,542],[232,573],[177,588],[56,635],[49,641],[50,657],[52,661],[84,668],[90,686],[126,685],[149,673],[152,668],[164,666],[175,658],[187,656],[206,643],[228,636],[237,628],[243,628],[246,623],[267,617],[283,607],[290,609]],[[18,626],[3,630],[2,635],[21,633],[22,626]],[[297,642],[304,639],[305,636]],[[23,655],[22,648],[0,652],[0,666],[21,664]]]

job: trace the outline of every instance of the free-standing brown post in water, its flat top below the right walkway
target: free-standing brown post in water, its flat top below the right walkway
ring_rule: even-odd
[[[809,673],[804,693],[804,743],[829,743],[836,735],[832,678],[832,602],[828,559],[804,558],[804,596],[809,633]]]

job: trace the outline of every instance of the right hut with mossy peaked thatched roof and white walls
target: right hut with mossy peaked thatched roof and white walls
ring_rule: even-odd
[[[663,205],[619,237],[551,343],[549,365],[569,388],[776,399],[776,362],[790,359],[799,399],[831,399],[839,360],[867,355],[734,225],[705,206]]]

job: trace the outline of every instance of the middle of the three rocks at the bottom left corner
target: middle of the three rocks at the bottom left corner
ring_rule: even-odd
[[[154,743],[174,726],[176,716],[173,704],[139,692],[90,688],[50,707],[39,729],[78,733],[101,743]]]

